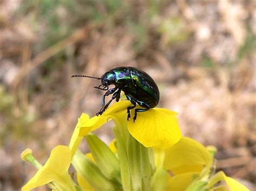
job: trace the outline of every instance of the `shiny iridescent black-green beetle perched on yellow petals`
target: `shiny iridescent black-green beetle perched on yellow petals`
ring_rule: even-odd
[[[102,84],[95,88],[107,91],[102,97],[102,109],[97,112],[97,116],[102,115],[114,99],[117,102],[119,101],[121,91],[124,92],[127,100],[132,103],[130,107],[127,107],[128,121],[131,117],[130,110],[135,108],[136,104],[143,109],[135,109],[133,122],[136,121],[137,112],[154,108],[159,102],[159,89],[156,82],[149,74],[138,68],[117,67],[107,71],[101,77],[86,75],[72,75],[71,77],[91,77],[102,81]],[[114,85],[114,88],[109,89],[111,84]],[[113,94],[111,100],[105,104],[105,97],[111,94]]]

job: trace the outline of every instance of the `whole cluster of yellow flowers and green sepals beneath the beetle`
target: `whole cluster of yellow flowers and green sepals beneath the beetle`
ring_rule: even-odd
[[[82,114],[69,146],[56,146],[43,166],[25,150],[22,159],[39,169],[22,190],[248,190],[224,172],[215,173],[215,148],[182,137],[176,112],[150,109],[133,123],[126,120],[130,104],[120,101],[92,118]],[[91,132],[109,120],[116,138],[106,145]],[[78,150],[83,138],[90,153]],[[76,180],[68,172],[71,164]]]

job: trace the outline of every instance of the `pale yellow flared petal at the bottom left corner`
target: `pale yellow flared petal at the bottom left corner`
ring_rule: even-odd
[[[73,190],[73,182],[68,173],[70,163],[70,148],[67,146],[56,146],[53,148],[45,165],[37,171],[35,176],[33,176],[25,186],[23,186],[22,190],[31,190],[52,181],[58,185],[64,185],[66,189]]]

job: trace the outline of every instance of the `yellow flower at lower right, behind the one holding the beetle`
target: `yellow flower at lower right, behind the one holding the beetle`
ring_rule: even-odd
[[[214,150],[211,148],[211,152]],[[248,189],[220,171],[211,175],[213,155],[202,144],[191,138],[182,137],[180,141],[165,152],[164,168],[174,176],[167,175],[167,190],[194,190],[194,188],[213,189],[215,183],[223,180],[230,190]],[[218,189],[217,189],[218,190]]]

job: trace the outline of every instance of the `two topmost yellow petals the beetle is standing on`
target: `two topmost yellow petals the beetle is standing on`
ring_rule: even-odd
[[[161,108],[139,112],[136,122],[127,121],[127,107],[130,101],[119,101],[107,109],[103,115],[88,118],[83,114],[78,119],[75,132],[70,141],[70,149],[76,150],[78,143],[87,133],[98,129],[108,120],[113,119],[116,125],[126,126],[130,134],[145,147],[167,148],[176,144],[181,138],[177,113]],[[131,111],[134,115],[134,110]]]

